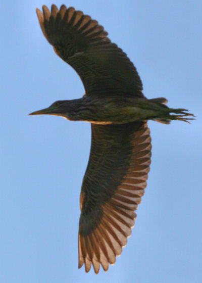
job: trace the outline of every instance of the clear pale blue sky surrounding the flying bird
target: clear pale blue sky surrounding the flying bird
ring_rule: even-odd
[[[79,194],[90,125],[27,114],[80,98],[83,85],[44,38],[35,8],[2,1],[0,281],[2,283],[200,282],[201,0],[55,1],[98,20],[134,62],[147,98],[196,115],[149,122],[153,155],[135,228],[108,272],[77,269]]]

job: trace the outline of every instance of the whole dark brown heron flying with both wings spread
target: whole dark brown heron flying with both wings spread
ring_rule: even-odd
[[[122,252],[144,195],[151,156],[147,120],[169,124],[192,119],[167,107],[165,98],[146,99],[127,55],[97,21],[74,8],[36,9],[54,51],[80,76],[85,95],[57,101],[30,115],[49,114],[91,123],[91,150],[83,178],[79,220],[79,268],[105,271]],[[188,117],[188,118],[187,118]]]

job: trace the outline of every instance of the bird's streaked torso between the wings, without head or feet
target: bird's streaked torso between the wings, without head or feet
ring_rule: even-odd
[[[144,98],[107,97],[97,99],[84,96],[80,100],[80,106],[75,109],[75,112],[70,113],[70,116],[67,115],[67,118],[101,125],[130,123],[155,116],[155,110],[143,108],[144,105],[148,105],[147,103],[148,100]]]

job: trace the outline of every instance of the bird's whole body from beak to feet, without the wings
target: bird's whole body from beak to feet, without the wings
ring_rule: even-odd
[[[148,100],[131,97],[83,96],[81,99],[55,102],[51,108],[39,110],[35,114],[62,116],[71,121],[85,121],[92,124],[125,124],[135,121],[157,120],[170,123],[170,120],[184,120],[184,109],[170,109],[164,98]],[[170,115],[171,112],[179,115]]]

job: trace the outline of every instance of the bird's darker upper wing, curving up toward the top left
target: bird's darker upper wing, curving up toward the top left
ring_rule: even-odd
[[[97,21],[74,8],[36,9],[44,36],[56,53],[79,74],[86,95],[144,97],[133,63]]]

